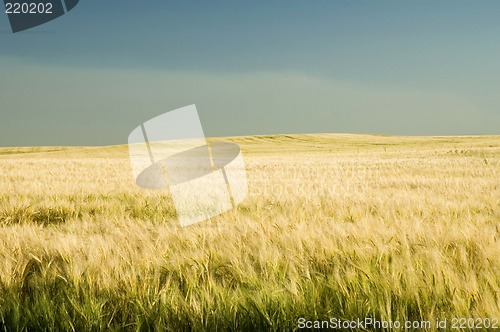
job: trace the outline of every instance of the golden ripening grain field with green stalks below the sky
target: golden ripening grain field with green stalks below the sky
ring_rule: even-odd
[[[1,329],[500,319],[500,136],[223,140],[249,195],[186,228],[126,146],[0,148]]]

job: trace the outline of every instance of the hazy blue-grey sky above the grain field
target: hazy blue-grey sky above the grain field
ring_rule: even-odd
[[[500,134],[499,1],[80,3],[13,34],[0,146],[127,143],[196,104],[206,136]]]

